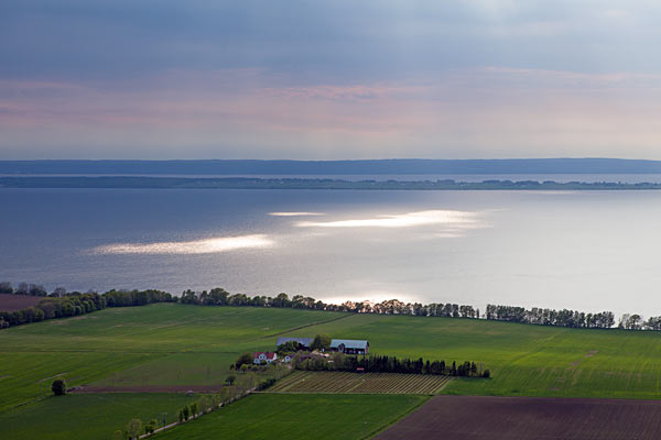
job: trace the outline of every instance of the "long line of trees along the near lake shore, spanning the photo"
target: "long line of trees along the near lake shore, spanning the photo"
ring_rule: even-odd
[[[626,330],[661,330],[661,317],[644,320],[638,314],[625,314],[617,321],[613,311],[583,312],[578,310],[555,310],[549,308],[527,309],[524,307],[487,305],[484,314],[479,308],[469,305],[432,302],[403,302],[389,299],[381,302],[345,301],[326,304],[310,296],[281,293],[274,297],[246,294],[230,294],[224,288],[210,290],[184,290],[180,297],[166,292],[148,290],[109,290],[102,295],[94,292],[85,294],[66,293],[62,287],[47,294],[45,288],[36,284],[21,283],[14,289],[10,283],[0,283],[0,294],[19,294],[42,296],[44,299],[36,306],[14,312],[0,311],[0,328],[18,326],[43,319],[82,315],[105,307],[142,306],[152,302],[181,302],[199,306],[236,306],[236,307],[275,307],[307,310],[344,311],[351,314],[411,315],[419,317],[469,318],[529,323],[538,326],[556,326],[585,329],[610,329],[617,327]],[[52,300],[56,298],[56,300]],[[47,300],[46,300],[47,299]],[[58,299],[58,300],[57,300]],[[43,302],[43,304],[42,304]],[[52,302],[52,306],[48,305]],[[40,311],[41,310],[41,311]]]

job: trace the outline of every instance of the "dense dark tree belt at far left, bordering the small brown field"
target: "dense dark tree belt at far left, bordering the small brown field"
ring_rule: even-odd
[[[41,296],[41,295],[40,295]],[[44,296],[35,306],[15,311],[0,311],[0,329],[39,322],[44,319],[85,315],[106,307],[144,306],[152,302],[172,302],[176,298],[161,290],[109,290],[105,294],[88,292],[59,293]]]

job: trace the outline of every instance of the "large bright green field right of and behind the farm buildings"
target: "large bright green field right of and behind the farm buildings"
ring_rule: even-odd
[[[372,353],[475,361],[491,372],[489,380],[457,377],[443,394],[661,398],[661,332],[377,315],[353,315],[314,330],[369,339]]]

